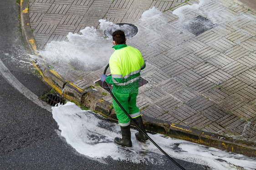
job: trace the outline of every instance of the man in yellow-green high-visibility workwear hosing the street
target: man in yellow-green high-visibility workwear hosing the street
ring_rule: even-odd
[[[113,95],[135,123],[146,133],[139,108],[136,106],[140,71],[146,67],[146,64],[138,49],[125,44],[126,38],[123,31],[117,30],[113,32],[112,36],[115,52],[109,58],[111,76],[102,74],[101,81],[113,84]],[[130,119],[114,99],[113,107],[122,131],[122,139],[116,137],[114,141],[119,146],[132,147]],[[148,140],[147,136],[141,131],[136,133],[135,136],[139,141],[145,142]]]

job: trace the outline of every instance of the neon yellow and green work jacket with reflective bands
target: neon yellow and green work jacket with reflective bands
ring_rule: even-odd
[[[141,53],[126,44],[113,46],[115,52],[109,58],[111,76],[105,81],[113,84],[113,89],[138,87],[140,71],[146,67]]]

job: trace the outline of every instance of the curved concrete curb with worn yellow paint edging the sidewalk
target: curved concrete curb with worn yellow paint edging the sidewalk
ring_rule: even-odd
[[[43,57],[38,55],[36,50],[36,41],[30,26],[27,0],[20,0],[20,20],[22,34],[27,48],[29,49],[30,53],[37,55],[44,61]],[[46,61],[39,64],[35,60],[33,61],[33,64],[36,69],[38,69],[43,79],[49,83],[51,87],[55,88],[61,96],[67,98],[68,100],[79,102],[82,106],[93,109],[102,114],[104,117],[117,120],[116,114],[111,107],[111,103],[102,100],[102,95],[100,92],[97,92],[90,87],[82,90],[74,84],[69,83],[67,80],[61,78],[61,76],[54,70],[50,69]],[[154,131],[170,137],[219,148],[225,151],[232,151],[253,157],[256,156],[256,146],[253,142],[235,140],[233,138],[216,135],[210,132],[192,129],[188,126],[159,121],[147,116],[143,116],[143,121],[148,131]]]

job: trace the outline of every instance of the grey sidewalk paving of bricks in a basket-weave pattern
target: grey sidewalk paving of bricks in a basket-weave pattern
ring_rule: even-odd
[[[38,49],[67,41],[69,32],[99,28],[99,19],[135,24],[147,67],[138,107],[150,117],[256,141],[256,15],[232,0],[208,0],[183,15],[173,11],[199,0],[30,0],[30,21]],[[156,7],[158,20],[141,21]],[[195,36],[179,25],[198,15],[216,25]],[[61,66],[55,66],[56,70]],[[93,85],[104,68],[62,75],[78,87]],[[109,74],[109,71],[108,71]],[[111,102],[110,95],[103,97]]]

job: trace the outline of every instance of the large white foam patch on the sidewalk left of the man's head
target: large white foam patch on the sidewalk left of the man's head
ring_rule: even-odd
[[[58,63],[64,68],[89,71],[102,68],[108,63],[114,51],[112,46],[111,41],[100,36],[95,28],[86,27],[80,34],[69,33],[67,41],[51,41],[39,54],[51,65]]]

